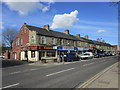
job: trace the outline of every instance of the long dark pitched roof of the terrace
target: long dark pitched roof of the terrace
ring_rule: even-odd
[[[26,25],[26,27],[31,31],[36,31],[37,35],[64,38],[64,39],[70,39],[70,40],[80,40],[80,41],[83,41],[83,42],[94,43],[94,44],[97,44],[97,45],[111,46],[108,43],[102,43],[102,42],[98,42],[98,41],[95,41],[95,40],[86,39],[86,38],[83,38],[83,37],[79,38],[79,37],[76,37],[76,36],[71,35],[71,34],[65,34],[63,32],[58,32],[58,31],[53,31],[53,30],[48,31],[44,28],[35,27],[35,26],[31,26],[31,25]]]

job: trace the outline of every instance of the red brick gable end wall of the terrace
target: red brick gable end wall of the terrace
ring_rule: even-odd
[[[26,28],[26,31],[25,31]],[[20,45],[16,46],[16,41],[19,38]],[[21,44],[22,39],[22,44]],[[27,43],[29,43],[29,29],[26,27],[25,24],[21,27],[21,30],[19,31],[15,41],[13,42],[13,48],[12,48],[12,58],[15,59],[14,53],[16,53],[16,59],[20,59],[20,52],[22,50],[22,47],[27,46]]]

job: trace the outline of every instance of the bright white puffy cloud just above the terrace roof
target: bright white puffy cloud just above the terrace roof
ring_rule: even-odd
[[[63,14],[63,15],[55,15],[53,18],[53,23],[51,28],[70,28],[73,26],[75,22],[77,22],[79,19],[77,18],[78,11],[75,10],[71,12],[70,14]]]

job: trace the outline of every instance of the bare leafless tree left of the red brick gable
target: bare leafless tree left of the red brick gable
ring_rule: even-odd
[[[15,40],[17,34],[18,31],[15,29],[5,29],[2,32],[2,43],[4,43],[5,46],[12,48],[12,43]]]

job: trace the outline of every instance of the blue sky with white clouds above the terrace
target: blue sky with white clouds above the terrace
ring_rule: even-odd
[[[20,30],[23,23],[100,38],[118,44],[118,8],[108,2],[2,2],[0,30]]]

